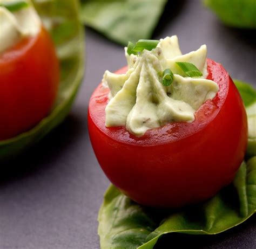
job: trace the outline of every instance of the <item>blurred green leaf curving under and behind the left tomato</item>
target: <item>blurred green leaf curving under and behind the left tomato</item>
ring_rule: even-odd
[[[60,61],[60,85],[55,106],[37,126],[0,141],[0,160],[21,153],[59,125],[69,113],[84,73],[84,32],[78,0],[34,0],[35,8],[55,41]]]

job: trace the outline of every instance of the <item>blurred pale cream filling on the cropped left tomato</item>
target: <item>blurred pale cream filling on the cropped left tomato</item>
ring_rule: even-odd
[[[41,30],[41,20],[30,1],[0,0],[0,53]]]

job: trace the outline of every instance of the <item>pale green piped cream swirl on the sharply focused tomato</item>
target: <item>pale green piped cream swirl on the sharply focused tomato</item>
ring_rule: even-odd
[[[218,85],[207,77],[207,48],[181,54],[177,36],[160,39],[156,49],[143,50],[138,56],[125,56],[129,70],[125,74],[106,71],[103,86],[110,89],[106,127],[125,126],[135,136],[170,122],[194,121],[194,113],[213,99]],[[186,77],[176,62],[194,64],[202,77]],[[162,74],[170,68],[174,74],[170,86],[161,84]]]

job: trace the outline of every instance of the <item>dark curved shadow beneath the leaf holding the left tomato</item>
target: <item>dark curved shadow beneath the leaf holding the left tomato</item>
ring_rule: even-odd
[[[1,162],[0,186],[33,174],[45,165],[54,161],[54,158],[72,146],[73,141],[80,136],[85,129],[80,117],[69,115],[57,128],[53,129],[44,139],[35,146],[28,148],[23,154]]]

